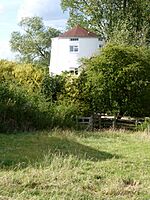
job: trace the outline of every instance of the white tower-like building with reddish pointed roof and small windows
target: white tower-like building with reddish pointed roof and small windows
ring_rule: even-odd
[[[91,57],[102,45],[103,41],[95,33],[80,26],[52,38],[50,74],[61,74],[63,71],[77,74],[80,58]]]

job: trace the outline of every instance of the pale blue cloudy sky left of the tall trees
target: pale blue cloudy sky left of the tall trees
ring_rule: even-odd
[[[63,30],[67,13],[63,13],[60,0],[0,0],[0,59],[11,59],[10,35],[19,30],[22,17],[40,16],[48,26]]]

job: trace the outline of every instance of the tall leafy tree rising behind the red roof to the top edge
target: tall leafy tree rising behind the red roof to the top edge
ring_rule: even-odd
[[[69,26],[81,24],[96,31],[105,39],[115,27],[126,23],[128,30],[150,30],[149,0],[62,0],[63,10],[69,11]]]

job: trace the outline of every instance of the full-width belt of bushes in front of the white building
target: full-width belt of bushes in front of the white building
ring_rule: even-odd
[[[33,64],[0,62],[1,131],[75,128],[76,116],[149,117],[150,50],[107,44],[79,77],[50,77]]]

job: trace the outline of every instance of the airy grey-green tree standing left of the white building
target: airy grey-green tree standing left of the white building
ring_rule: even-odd
[[[17,56],[22,62],[48,66],[51,38],[58,36],[60,31],[45,27],[40,17],[23,18],[19,26],[23,29],[23,33],[15,31],[11,34],[11,50],[18,53]]]

